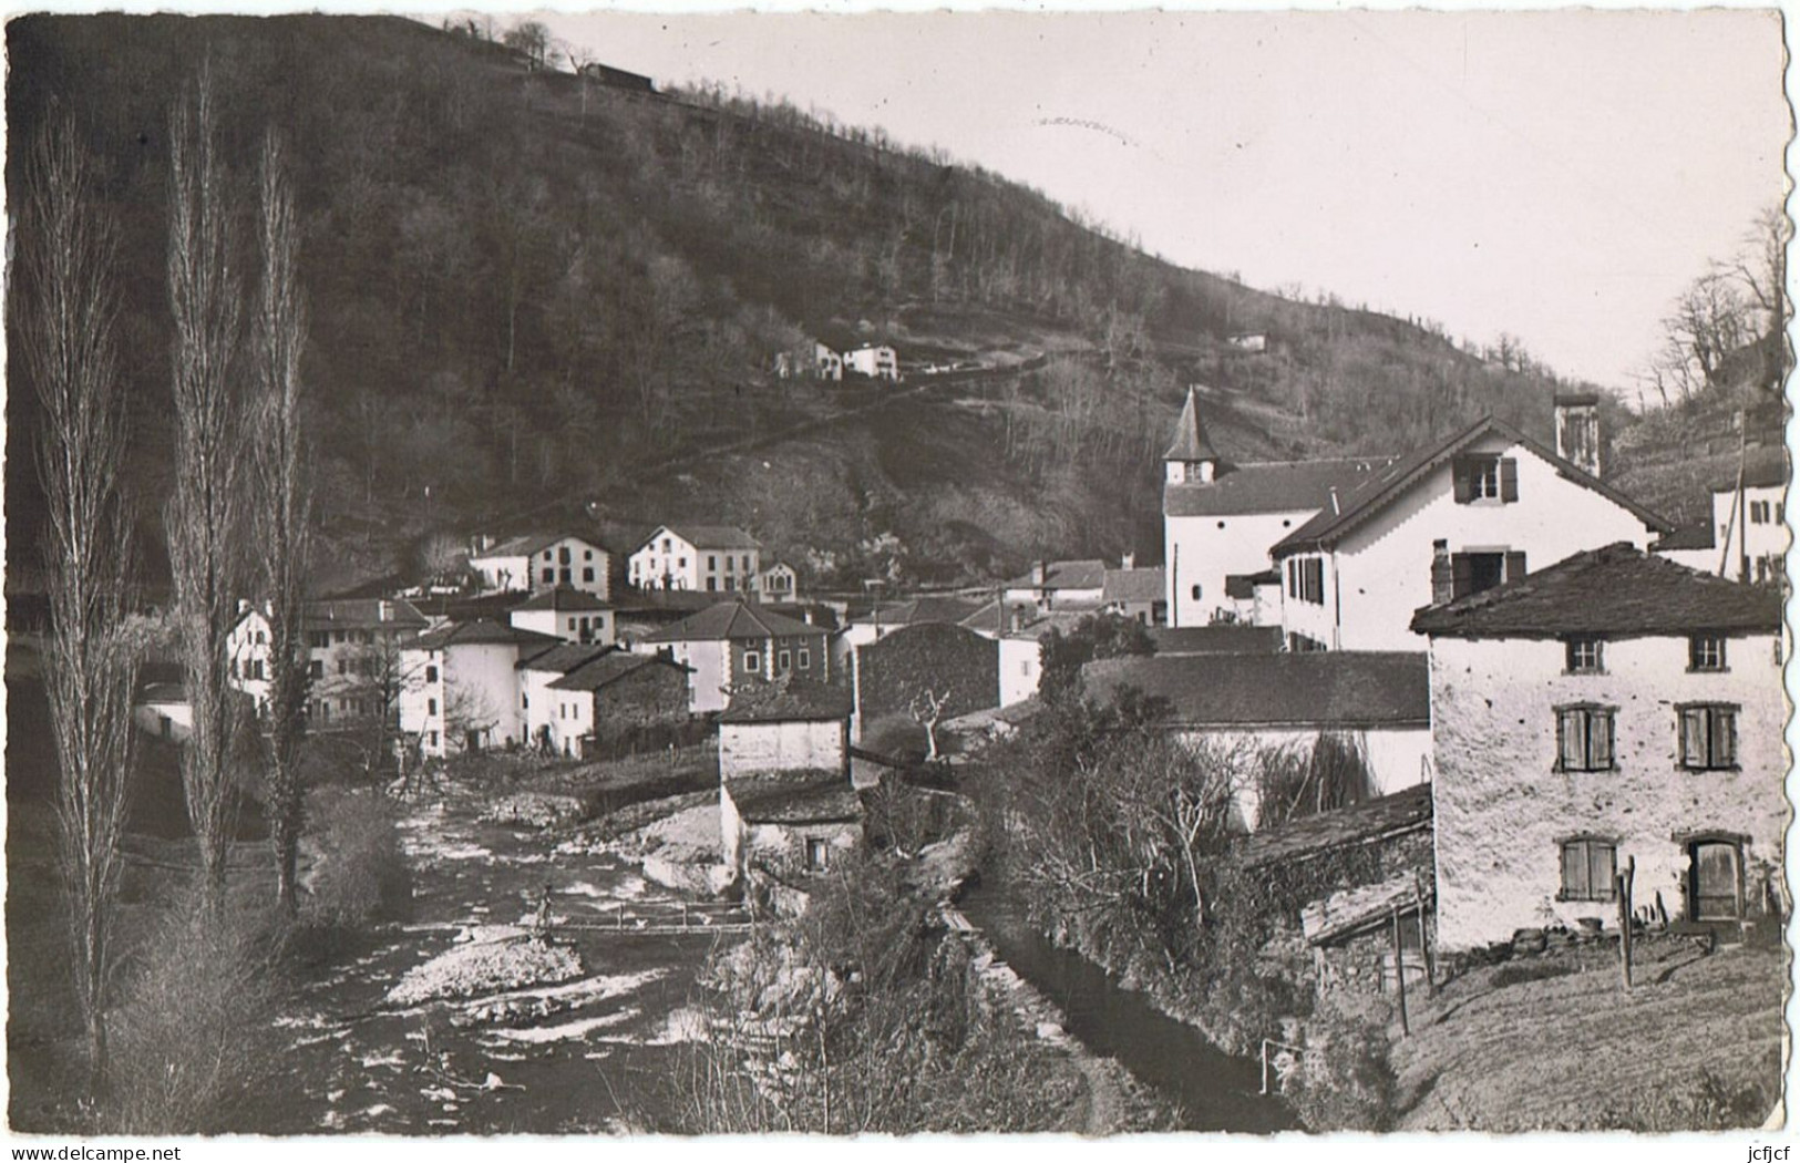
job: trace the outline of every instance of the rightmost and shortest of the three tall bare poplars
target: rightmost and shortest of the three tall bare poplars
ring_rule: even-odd
[[[257,245],[263,283],[252,320],[256,360],[256,535],[263,592],[268,600],[268,767],[265,812],[275,850],[275,897],[295,911],[301,848],[301,745],[306,731],[308,648],[302,623],[311,490],[301,428],[301,349],[306,304],[293,268],[299,239],[293,191],[281,139],[263,139],[257,182]]]

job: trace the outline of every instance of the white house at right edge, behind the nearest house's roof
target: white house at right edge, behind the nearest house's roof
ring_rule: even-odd
[[[1670,562],[1735,582],[1782,585],[1787,558],[1787,448],[1753,445],[1739,473],[1715,481],[1712,520],[1656,542]]]

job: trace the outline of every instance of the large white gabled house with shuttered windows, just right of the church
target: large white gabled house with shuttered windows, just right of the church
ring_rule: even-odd
[[[1559,418],[1559,430],[1566,430]],[[1595,437],[1597,441],[1597,437]],[[1512,427],[1480,419],[1334,497],[1271,556],[1291,650],[1415,650],[1413,610],[1669,524]]]

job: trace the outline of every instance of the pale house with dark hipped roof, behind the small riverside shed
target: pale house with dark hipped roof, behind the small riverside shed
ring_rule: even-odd
[[[727,691],[745,684],[801,679],[826,682],[832,655],[826,632],[747,601],[720,601],[673,627],[644,636],[637,654],[662,654],[688,668],[688,709],[725,708]]]

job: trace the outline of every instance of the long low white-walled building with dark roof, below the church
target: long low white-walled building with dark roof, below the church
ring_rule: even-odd
[[[1233,756],[1233,814],[1264,823],[1255,753],[1310,756],[1321,738],[1355,756],[1368,796],[1431,780],[1431,700],[1424,654],[1215,654],[1089,663],[1082,684],[1098,700],[1134,688],[1161,699],[1163,727],[1193,747]]]

